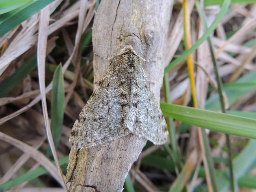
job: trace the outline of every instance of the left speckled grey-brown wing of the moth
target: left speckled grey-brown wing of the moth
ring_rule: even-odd
[[[109,70],[99,82],[74,123],[70,143],[74,148],[89,148],[130,133],[124,121],[129,109],[129,92],[124,79]]]

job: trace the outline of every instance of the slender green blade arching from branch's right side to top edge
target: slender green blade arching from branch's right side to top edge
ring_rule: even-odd
[[[168,71],[173,69],[175,66],[177,66],[182,61],[184,61],[189,54],[193,53],[198,48],[198,46],[200,46],[200,44],[202,44],[211,35],[211,33],[215,30],[215,28],[217,27],[219,22],[221,22],[221,19],[226,14],[226,11],[228,10],[230,2],[231,2],[231,0],[224,0],[223,4],[221,6],[221,10],[219,11],[217,17],[215,18],[215,20],[213,21],[211,26],[204,32],[204,35],[202,35],[202,37],[200,39],[198,39],[197,42],[189,50],[183,52],[183,54],[181,54],[177,59],[174,59],[174,61],[172,61],[165,68],[165,73],[167,73]]]

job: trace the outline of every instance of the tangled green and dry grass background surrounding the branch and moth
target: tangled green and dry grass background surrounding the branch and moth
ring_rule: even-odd
[[[37,31],[41,30],[38,11],[51,2],[0,2],[0,190],[3,191],[64,190],[61,178],[49,171],[53,157],[46,139],[47,120],[39,102],[40,92],[46,94],[43,106],[47,107],[50,118],[48,128],[53,138],[50,145],[55,145],[65,174],[72,125],[93,91],[91,26],[100,2],[93,1],[88,10],[83,10],[87,11],[84,18],[87,26],[83,29],[78,26],[80,35],[77,22],[81,1],[59,0],[52,4],[50,34],[39,34],[49,35],[47,46],[41,47],[46,54],[44,77],[37,68],[37,62],[42,62],[36,54]],[[174,29],[184,31],[184,36],[167,42],[167,47],[178,42],[169,49],[175,55],[170,56],[165,68],[161,94],[170,142],[163,146],[147,143],[126,178],[125,191],[256,188],[255,1],[205,0],[204,4],[197,1],[191,5],[191,13],[189,4],[186,0],[182,4],[175,2],[169,37]],[[213,4],[218,7],[210,7]],[[180,26],[177,21],[182,10],[184,25]],[[71,60],[72,50],[77,48],[76,35],[81,36],[82,43],[81,53],[76,55],[80,58],[80,70],[76,70],[76,61]],[[43,92],[39,79],[47,87]],[[74,87],[70,89],[72,83]],[[221,109],[227,114],[220,113]],[[224,133],[231,135],[230,146],[225,144]],[[201,135],[201,140],[195,134]],[[31,148],[26,144],[45,159],[29,154]],[[198,145],[204,151],[202,155],[191,148]],[[193,159],[195,154],[201,155],[200,161]],[[234,177],[230,177],[230,170]]]

